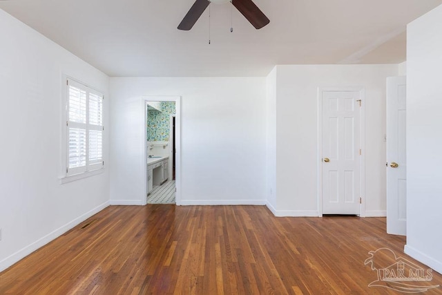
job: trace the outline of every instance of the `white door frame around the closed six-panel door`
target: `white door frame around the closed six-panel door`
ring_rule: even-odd
[[[365,88],[364,87],[318,87],[318,146],[317,146],[317,175],[318,175],[318,216],[323,216],[323,93],[328,91],[340,92],[359,92],[361,97],[361,124],[359,142],[362,150],[360,157],[361,163],[359,165],[360,171],[360,196],[362,198],[360,215],[365,217]]]

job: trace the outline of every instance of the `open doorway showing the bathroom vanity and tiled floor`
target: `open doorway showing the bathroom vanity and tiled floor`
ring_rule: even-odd
[[[146,204],[179,202],[179,97],[145,97]]]

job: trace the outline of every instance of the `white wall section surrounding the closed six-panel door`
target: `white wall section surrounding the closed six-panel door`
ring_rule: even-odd
[[[277,216],[318,216],[318,87],[365,88],[365,213],[385,216],[385,79],[397,65],[276,67]],[[271,99],[271,98],[269,98]]]

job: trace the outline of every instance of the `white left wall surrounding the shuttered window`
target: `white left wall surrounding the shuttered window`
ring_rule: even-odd
[[[108,77],[3,10],[0,39],[1,271],[106,207],[109,181],[106,171],[59,183],[62,76],[105,95]],[[108,125],[106,99],[104,111]]]

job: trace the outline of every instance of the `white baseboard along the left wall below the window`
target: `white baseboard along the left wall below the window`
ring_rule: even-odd
[[[74,220],[66,223],[66,225],[63,225],[62,227],[59,227],[58,229],[55,229],[55,231],[50,232],[46,236],[39,238],[35,242],[32,242],[30,245],[24,247],[23,249],[20,249],[19,251],[15,252],[14,254],[4,258],[0,261],[0,272],[7,269],[14,263],[17,263],[19,260],[25,258],[29,254],[31,254],[33,251],[43,247],[44,245],[48,244],[48,242],[51,242],[52,240],[55,240],[62,234],[66,233],[66,231],[73,229],[73,227],[76,227],[84,220],[90,218],[90,216],[93,216],[94,214],[98,213],[99,211],[102,211],[104,208],[109,206],[109,201],[104,202],[103,204],[100,204],[99,206],[95,207],[94,209],[84,213],[83,215],[75,218]]]

